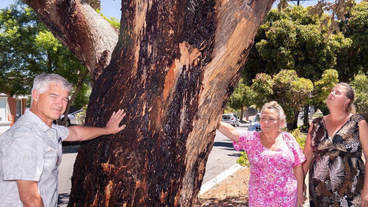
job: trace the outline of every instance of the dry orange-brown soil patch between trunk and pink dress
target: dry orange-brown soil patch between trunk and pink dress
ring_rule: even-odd
[[[248,181],[250,171],[242,167],[199,196],[199,207],[248,207]]]

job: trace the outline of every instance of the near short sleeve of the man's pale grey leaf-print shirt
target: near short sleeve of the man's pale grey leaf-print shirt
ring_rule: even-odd
[[[41,138],[30,132],[13,134],[2,147],[3,180],[34,180],[41,178],[44,150]]]

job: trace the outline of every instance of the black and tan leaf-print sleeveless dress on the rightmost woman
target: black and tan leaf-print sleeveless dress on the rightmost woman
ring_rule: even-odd
[[[353,115],[332,137],[323,117],[313,120],[309,166],[309,202],[311,207],[360,207],[364,184],[364,163],[358,122]]]

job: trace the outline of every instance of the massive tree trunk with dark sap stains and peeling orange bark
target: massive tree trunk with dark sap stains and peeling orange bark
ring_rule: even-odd
[[[77,3],[59,9],[83,4],[65,2]],[[122,1],[119,39],[94,82],[86,125],[103,127],[123,108],[127,127],[81,145],[69,206],[195,206],[216,124],[272,4]]]

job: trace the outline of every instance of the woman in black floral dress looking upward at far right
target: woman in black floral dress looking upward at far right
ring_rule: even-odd
[[[354,89],[337,84],[327,98],[330,114],[313,120],[304,154],[311,207],[368,207],[368,125],[355,115]],[[305,190],[305,189],[304,189]]]

